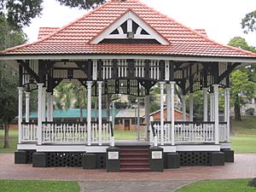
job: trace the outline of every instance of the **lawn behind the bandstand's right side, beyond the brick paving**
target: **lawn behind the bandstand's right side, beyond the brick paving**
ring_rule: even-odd
[[[256,117],[232,120],[235,137],[230,137],[232,148],[238,154],[256,154]],[[256,189],[255,189],[256,191]]]

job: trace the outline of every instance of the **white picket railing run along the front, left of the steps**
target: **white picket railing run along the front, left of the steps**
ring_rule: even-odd
[[[88,142],[85,123],[43,123],[42,143],[84,143]],[[97,123],[91,124],[91,143],[100,143],[100,130]],[[109,124],[102,124],[102,143],[111,142]]]

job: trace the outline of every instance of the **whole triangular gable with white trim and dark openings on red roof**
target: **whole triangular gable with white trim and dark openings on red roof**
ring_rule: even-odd
[[[115,20],[90,43],[170,44],[131,10]]]

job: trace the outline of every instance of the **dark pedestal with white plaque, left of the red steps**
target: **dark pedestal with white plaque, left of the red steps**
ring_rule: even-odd
[[[106,170],[107,170],[107,172],[119,172],[120,171],[119,148],[116,148],[116,147],[107,148]]]

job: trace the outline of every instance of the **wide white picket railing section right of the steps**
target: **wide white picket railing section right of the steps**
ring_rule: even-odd
[[[176,122],[174,137],[176,143],[212,143],[214,142],[214,123]]]

